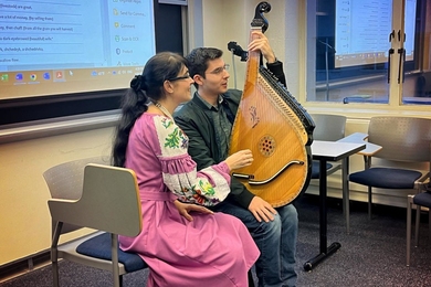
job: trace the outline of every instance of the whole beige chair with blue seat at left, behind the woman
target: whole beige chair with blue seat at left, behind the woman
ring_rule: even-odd
[[[54,286],[59,286],[60,258],[111,270],[114,286],[122,286],[124,274],[147,267],[137,254],[118,248],[118,234],[136,236],[141,230],[136,176],[129,169],[97,163],[104,163],[102,158],[75,160],[43,173],[52,196],[48,205]],[[82,227],[96,232],[59,245],[62,234]]]

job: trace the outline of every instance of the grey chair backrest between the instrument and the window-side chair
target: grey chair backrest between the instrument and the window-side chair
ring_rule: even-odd
[[[312,114],[316,124],[313,139],[336,141],[345,137],[346,117],[338,115]]]

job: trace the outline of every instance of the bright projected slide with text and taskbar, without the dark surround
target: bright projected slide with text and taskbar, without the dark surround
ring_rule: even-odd
[[[154,54],[153,0],[0,3],[0,100],[124,88]]]

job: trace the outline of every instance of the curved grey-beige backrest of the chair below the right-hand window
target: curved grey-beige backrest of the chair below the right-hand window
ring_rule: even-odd
[[[404,162],[430,162],[431,119],[372,117],[368,141],[382,149],[374,157]]]

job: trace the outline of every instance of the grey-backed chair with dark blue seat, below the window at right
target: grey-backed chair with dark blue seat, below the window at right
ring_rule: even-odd
[[[382,148],[364,156],[365,170],[351,173],[349,181],[368,187],[368,216],[371,219],[372,188],[417,189],[419,192],[420,184],[429,179],[428,171],[395,166],[431,163],[431,119],[372,117],[368,126],[368,141]],[[379,163],[372,163],[371,158],[378,158]]]

